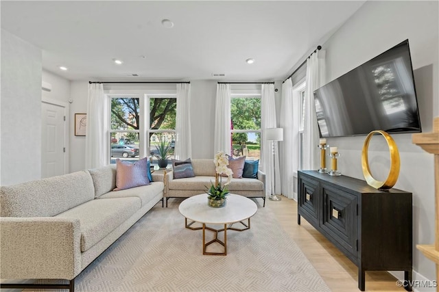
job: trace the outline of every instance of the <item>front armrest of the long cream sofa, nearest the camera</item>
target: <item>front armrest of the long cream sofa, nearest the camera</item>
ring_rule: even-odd
[[[82,271],[80,220],[1,217],[3,279],[67,279]]]

